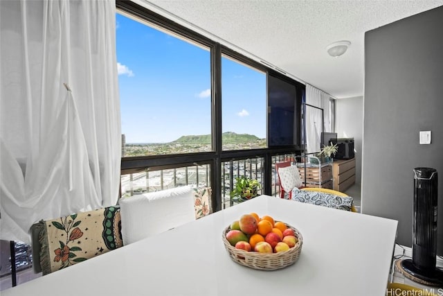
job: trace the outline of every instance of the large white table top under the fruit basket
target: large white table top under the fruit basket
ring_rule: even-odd
[[[300,231],[296,263],[266,271],[230,259],[221,233],[251,212]],[[383,296],[396,234],[397,220],[260,195],[1,295]]]

